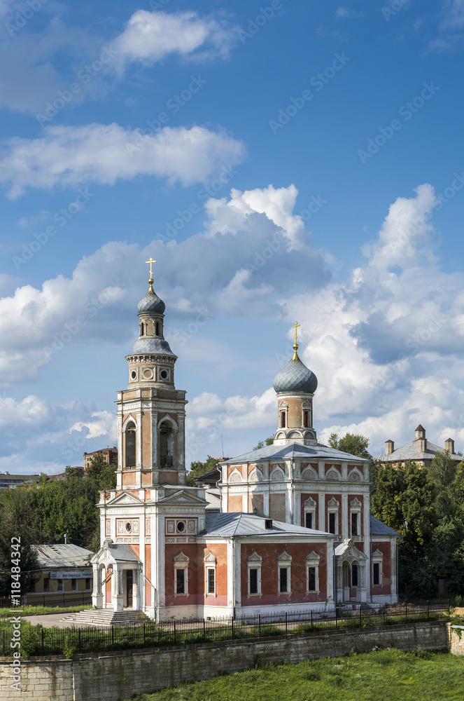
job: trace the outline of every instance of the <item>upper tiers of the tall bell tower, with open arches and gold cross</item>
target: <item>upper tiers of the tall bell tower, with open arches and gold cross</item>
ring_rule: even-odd
[[[150,285],[137,307],[139,338],[126,355],[127,390],[118,392],[118,489],[185,484],[185,391],[176,390],[177,356],[164,339],[164,301]]]

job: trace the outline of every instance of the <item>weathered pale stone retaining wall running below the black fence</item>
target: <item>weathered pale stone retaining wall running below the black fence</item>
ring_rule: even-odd
[[[208,679],[219,672],[239,672],[252,667],[257,660],[263,664],[302,662],[338,657],[352,650],[368,652],[375,646],[405,651],[418,646],[423,650],[439,650],[449,648],[450,640],[454,641],[455,637],[458,638],[455,632],[450,632],[447,622],[423,622],[325,635],[288,635],[76,655],[73,660],[31,658],[21,660],[20,691],[10,687],[11,658],[0,658],[0,698],[2,701],[116,701],[136,692],[149,693],[164,686]],[[458,649],[456,644],[455,647]]]

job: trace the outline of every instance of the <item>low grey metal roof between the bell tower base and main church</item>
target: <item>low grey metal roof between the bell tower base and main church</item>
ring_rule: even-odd
[[[206,526],[199,537],[221,536],[330,536],[330,533],[316,531],[304,526],[293,526],[283,521],[272,520],[272,529],[265,529],[265,517],[244,513],[209,513],[206,511]],[[333,536],[332,536],[333,537]]]

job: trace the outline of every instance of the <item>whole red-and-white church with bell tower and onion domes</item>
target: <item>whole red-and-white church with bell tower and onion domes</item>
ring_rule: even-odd
[[[116,401],[117,486],[98,504],[94,606],[168,620],[397,601],[400,536],[370,514],[370,462],[317,441],[318,381],[298,357],[297,325],[274,379],[274,443],[218,465],[220,511],[207,486],[186,484],[187,400],[153,273],[148,282]]]

